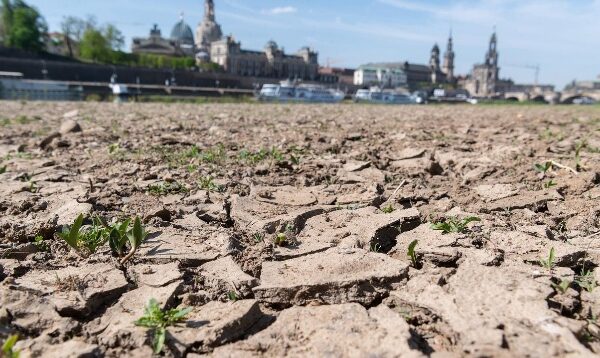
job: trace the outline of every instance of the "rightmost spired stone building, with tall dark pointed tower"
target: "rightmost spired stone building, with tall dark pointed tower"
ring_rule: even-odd
[[[498,38],[492,34],[485,62],[473,66],[473,70],[463,83],[464,88],[475,97],[493,97],[503,93],[510,83],[500,81],[500,67],[498,66]]]

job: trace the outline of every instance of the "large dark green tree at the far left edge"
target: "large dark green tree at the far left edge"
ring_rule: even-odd
[[[28,51],[43,51],[48,25],[34,7],[23,0],[2,0],[5,43]]]

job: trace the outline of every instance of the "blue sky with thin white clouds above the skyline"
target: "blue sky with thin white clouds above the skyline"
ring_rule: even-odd
[[[127,37],[146,36],[157,23],[168,35],[185,13],[195,29],[203,0],[29,0],[58,30],[66,15],[94,15]],[[499,37],[501,76],[562,88],[600,74],[600,0],[215,0],[217,21],[242,46],[261,49],[275,40],[287,52],[304,45],[321,64],[353,67],[373,61],[427,63],[435,42],[454,34],[456,67],[467,73],[483,61],[493,27]]]

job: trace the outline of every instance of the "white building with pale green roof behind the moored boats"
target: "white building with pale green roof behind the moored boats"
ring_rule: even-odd
[[[356,86],[379,86],[381,88],[399,88],[407,86],[404,70],[394,63],[370,63],[359,66],[354,71]]]

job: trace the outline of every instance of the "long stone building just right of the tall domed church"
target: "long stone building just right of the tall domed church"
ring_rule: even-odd
[[[232,36],[225,36],[213,42],[210,49],[211,61],[234,75],[311,81],[318,78],[318,55],[308,47],[288,55],[269,41],[263,51],[251,51],[242,49]]]

